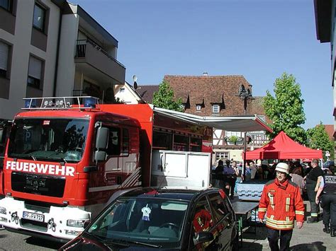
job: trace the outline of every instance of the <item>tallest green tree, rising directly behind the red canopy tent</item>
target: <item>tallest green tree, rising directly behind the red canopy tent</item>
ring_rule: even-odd
[[[296,83],[296,79],[291,74],[281,75],[276,78],[274,83],[274,93],[267,90],[264,97],[264,110],[273,121],[269,126],[273,129],[271,137],[276,136],[279,132],[284,131],[291,139],[306,143],[306,131],[300,125],[306,121],[303,111],[303,98],[301,98],[300,85]]]

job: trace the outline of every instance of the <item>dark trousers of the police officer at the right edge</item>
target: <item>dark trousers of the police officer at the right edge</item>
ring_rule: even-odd
[[[323,224],[336,229],[336,194],[323,194],[321,199],[323,208]]]

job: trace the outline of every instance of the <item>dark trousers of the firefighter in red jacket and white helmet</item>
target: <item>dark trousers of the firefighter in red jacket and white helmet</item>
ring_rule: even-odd
[[[269,247],[271,247],[271,251],[289,250],[291,235],[293,235],[293,229],[276,230],[267,227],[267,239],[269,240]],[[279,239],[280,239],[280,248],[279,248]]]

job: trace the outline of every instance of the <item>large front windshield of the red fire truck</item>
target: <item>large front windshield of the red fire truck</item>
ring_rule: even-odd
[[[77,163],[82,159],[89,119],[16,119],[9,158]]]

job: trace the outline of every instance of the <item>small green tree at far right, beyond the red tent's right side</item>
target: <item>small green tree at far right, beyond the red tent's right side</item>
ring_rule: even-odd
[[[320,122],[316,127],[307,130],[308,146],[313,149],[321,149],[326,160],[325,151],[329,151],[330,159],[334,159],[334,141],[329,139],[325,126]]]

